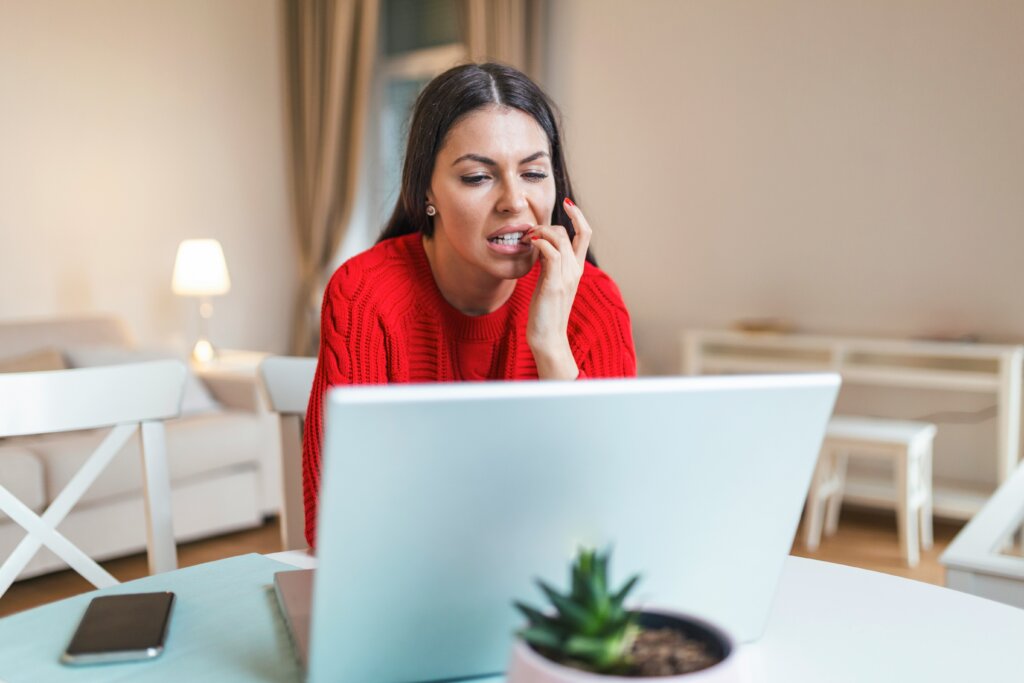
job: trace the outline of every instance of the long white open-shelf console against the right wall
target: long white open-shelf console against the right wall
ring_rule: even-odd
[[[1019,460],[1024,346],[724,330],[686,331],[682,342],[687,375],[828,371],[844,384],[991,394],[996,452],[968,455],[994,460],[999,483]],[[935,513],[970,519],[991,493],[937,479]],[[891,507],[894,493],[880,480],[851,479],[844,499]]]

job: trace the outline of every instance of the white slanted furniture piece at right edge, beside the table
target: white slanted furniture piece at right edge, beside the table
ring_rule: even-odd
[[[940,561],[946,586],[1024,608],[1024,465],[956,535]]]

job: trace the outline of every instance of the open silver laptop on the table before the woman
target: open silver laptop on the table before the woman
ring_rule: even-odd
[[[807,374],[332,390],[318,568],[276,580],[307,680],[499,675],[522,626],[512,601],[543,605],[534,580],[564,588],[582,546],[613,549],[613,584],[642,575],[637,604],[756,640],[839,385]]]

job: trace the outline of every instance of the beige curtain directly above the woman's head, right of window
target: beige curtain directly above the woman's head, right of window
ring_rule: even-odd
[[[541,77],[546,0],[463,0],[472,61],[501,61]]]

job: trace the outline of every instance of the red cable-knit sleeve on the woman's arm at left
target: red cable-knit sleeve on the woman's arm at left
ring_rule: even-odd
[[[302,494],[305,535],[316,545],[316,512],[321,487],[321,450],[324,434],[324,400],[328,389],[343,384],[380,384],[387,381],[384,338],[358,283],[342,266],[324,293],[321,343],[316,373],[309,392],[302,441]]]

